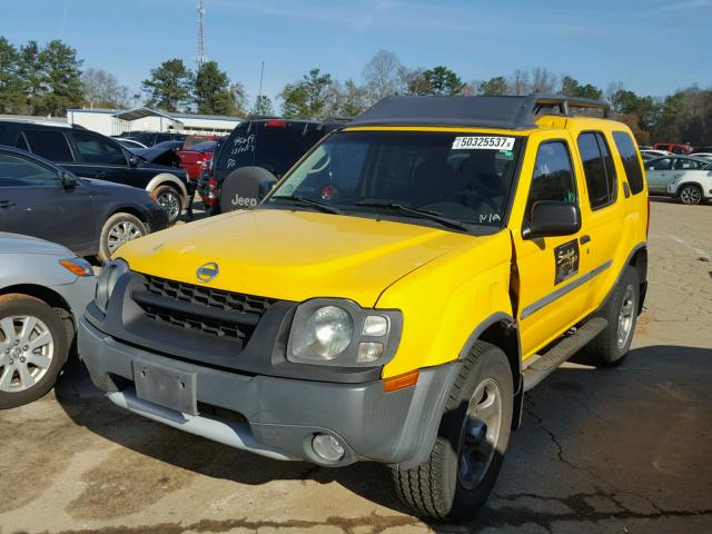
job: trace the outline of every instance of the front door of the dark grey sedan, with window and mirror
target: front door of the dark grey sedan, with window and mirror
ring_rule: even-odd
[[[0,152],[0,230],[81,253],[96,231],[91,197],[81,184],[65,188],[59,174],[39,161]]]

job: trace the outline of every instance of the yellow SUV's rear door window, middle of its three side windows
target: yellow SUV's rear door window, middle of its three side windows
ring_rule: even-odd
[[[599,209],[614,202],[617,191],[615,169],[603,134],[599,131],[581,134],[577,142],[591,209]]]

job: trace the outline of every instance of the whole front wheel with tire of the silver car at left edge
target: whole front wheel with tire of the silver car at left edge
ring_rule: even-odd
[[[42,300],[0,296],[0,408],[43,396],[67,360],[67,330]]]

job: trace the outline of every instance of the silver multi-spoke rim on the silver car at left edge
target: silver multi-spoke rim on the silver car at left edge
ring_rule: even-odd
[[[0,319],[0,392],[29,389],[47,374],[55,340],[44,323],[32,316]]]

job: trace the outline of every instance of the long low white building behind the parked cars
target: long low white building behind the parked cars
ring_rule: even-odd
[[[243,121],[239,117],[169,113],[150,108],[68,109],[67,122],[105,136],[125,131],[172,131],[189,135],[226,135]]]

